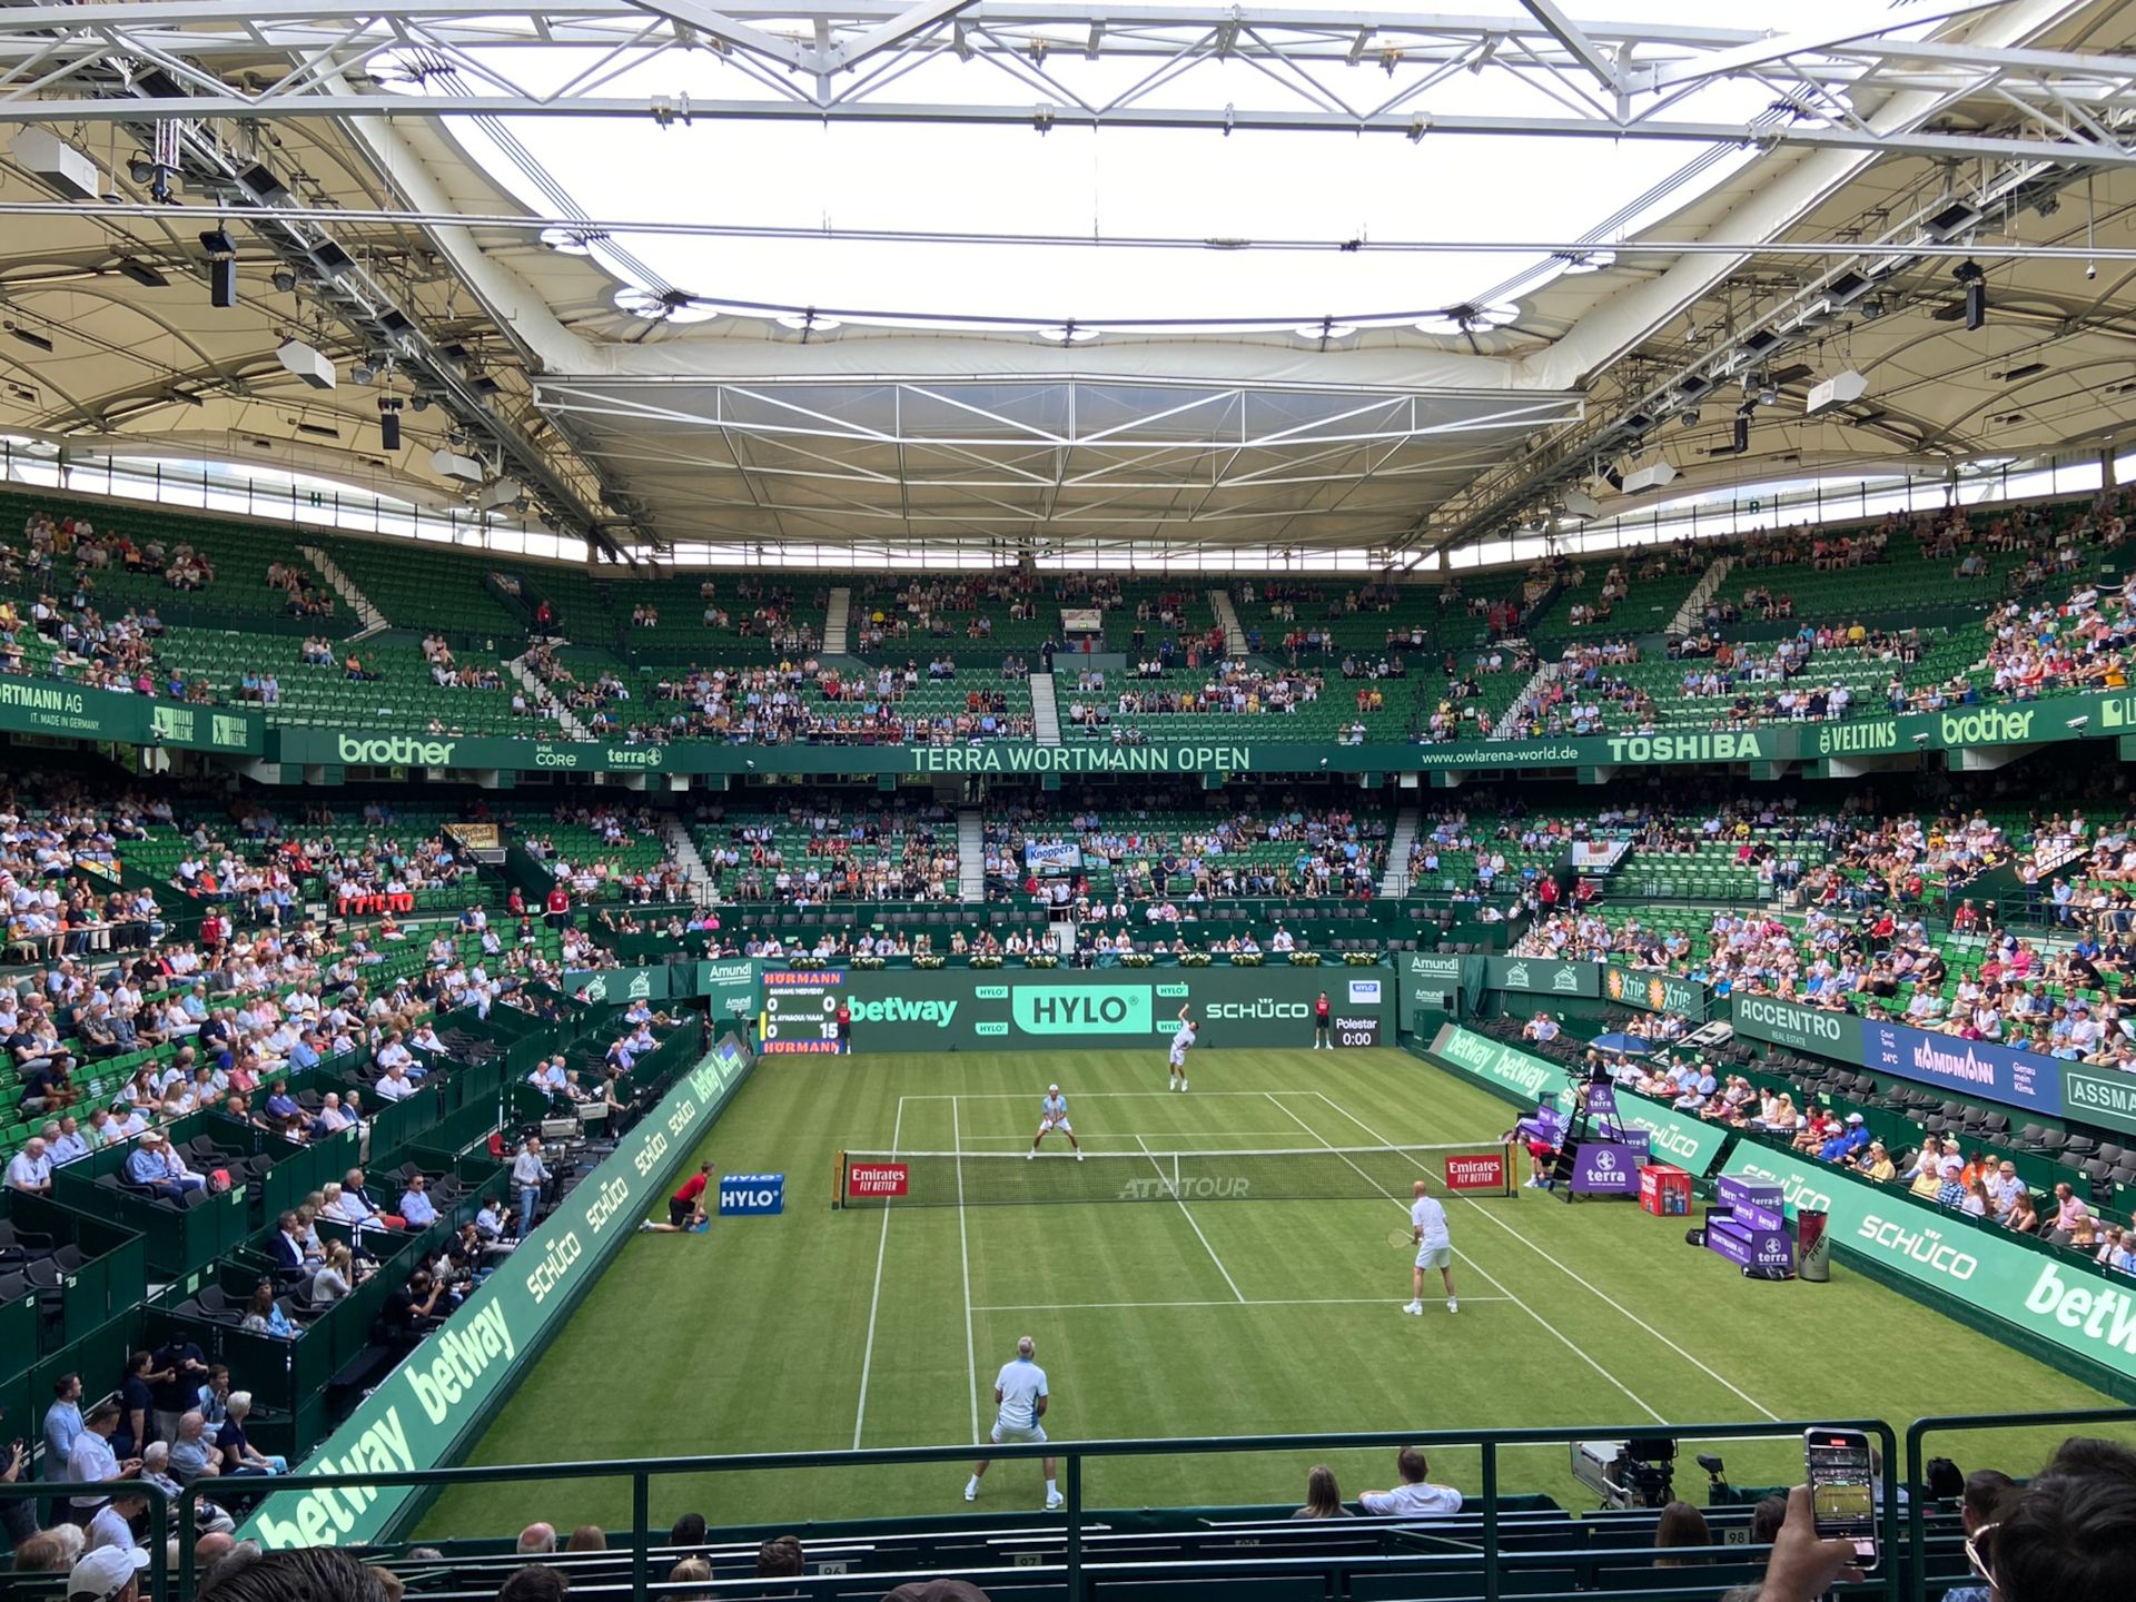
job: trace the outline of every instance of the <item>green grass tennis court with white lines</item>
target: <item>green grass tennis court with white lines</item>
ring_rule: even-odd
[[[1461,1312],[1403,1318],[1408,1256],[1386,1196],[1179,1205],[831,1211],[842,1147],[1019,1151],[1049,1081],[1091,1151],[1489,1143],[1510,1109],[1403,1051],[1209,1051],[1164,1091],[1162,1049],[1057,1055],[769,1057],[707,1138],[720,1171],[784,1171],[782,1218],[632,1241],[543,1354],[474,1463],[918,1446],[993,1423],[1019,1335],[1051,1376],[1055,1440],[1339,1429],[1662,1425],[2104,1405],[2100,1393],[1850,1273],[1760,1284],[1683,1243],[1685,1220],[1542,1192],[1450,1198]],[[1072,1162],[1053,1136],[1038,1164]],[[1008,1183],[1017,1173],[1006,1175]],[[989,1185],[995,1181],[989,1177]],[[1365,1188],[1365,1181],[1358,1181]],[[1401,1192],[1401,1207],[1408,1194]],[[2029,1472],[2046,1438],[1993,1444]],[[1702,1502],[1685,1444],[1677,1491]],[[1969,1448],[1978,1463],[1991,1446]],[[1737,1485],[1796,1476],[1799,1448],[1722,1448]],[[1384,1452],[1329,1455],[1354,1495]],[[1972,1463],[1969,1463],[1972,1465]],[[1297,1499],[1279,1455],[1098,1463],[1091,1506]],[[1474,1452],[1433,1478],[1476,1487]],[[1591,1506],[1566,1448],[1529,1448],[1508,1491]],[[658,1523],[955,1514],[961,1472],[822,1470],[654,1489]],[[1036,1510],[1036,1465],[1002,1463],[978,1510]],[[628,1523],[628,1485],[459,1489],[427,1527]]]

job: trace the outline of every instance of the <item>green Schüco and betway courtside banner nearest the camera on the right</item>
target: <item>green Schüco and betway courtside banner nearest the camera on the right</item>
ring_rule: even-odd
[[[2117,1393],[2136,1380],[2136,1279],[1754,1141],[1737,1143],[1724,1173],[1777,1183],[1792,1211],[1824,1211],[1826,1239],[1841,1254],[1931,1292],[1931,1303],[1959,1301],[2033,1348],[2104,1367]]]

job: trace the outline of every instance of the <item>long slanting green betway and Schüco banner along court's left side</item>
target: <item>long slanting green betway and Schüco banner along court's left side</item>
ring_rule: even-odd
[[[549,1218],[440,1324],[297,1474],[393,1474],[449,1467],[523,1378],[532,1354],[594,1286],[675,1168],[750,1072],[722,1038],[626,1134]],[[425,1497],[423,1487],[269,1491],[239,1529],[263,1546],[361,1546],[387,1540]]]

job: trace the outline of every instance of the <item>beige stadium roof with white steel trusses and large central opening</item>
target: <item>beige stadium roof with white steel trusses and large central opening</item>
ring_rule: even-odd
[[[2127,427],[2130,4],[1611,9],[0,9],[0,429],[686,557],[1408,566]]]

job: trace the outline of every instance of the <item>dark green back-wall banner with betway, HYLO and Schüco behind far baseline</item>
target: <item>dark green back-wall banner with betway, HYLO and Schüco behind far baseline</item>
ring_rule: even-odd
[[[1164,1049],[1192,1010],[1203,1047],[1309,1047],[1329,998],[1337,1045],[1395,1042],[1386,968],[1049,968],[1006,972],[767,968],[763,1053],[835,1053],[837,1008],[852,1051]]]

